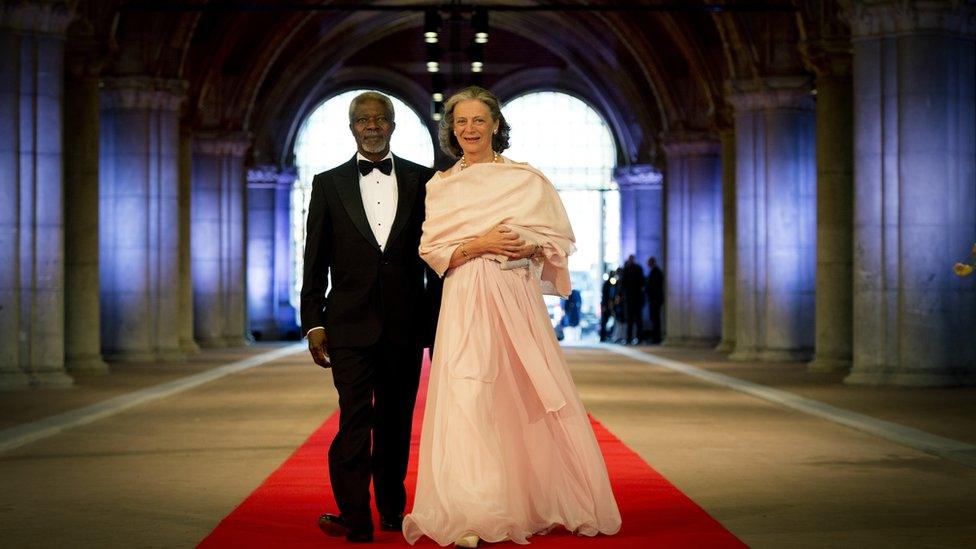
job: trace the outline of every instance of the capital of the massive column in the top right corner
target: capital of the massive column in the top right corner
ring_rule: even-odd
[[[971,0],[855,0],[850,19],[855,40],[932,31],[976,36]]]

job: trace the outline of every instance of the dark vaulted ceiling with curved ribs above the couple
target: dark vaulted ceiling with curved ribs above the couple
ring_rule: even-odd
[[[844,32],[836,0],[477,2],[488,7],[491,34],[485,71],[473,75],[463,49],[474,4],[82,0],[75,11],[84,24],[73,28],[84,31],[68,48],[93,36],[104,76],[184,80],[187,125],[248,132],[255,162],[287,163],[303,117],[345,89],[375,86],[430,112],[418,8],[440,7],[442,40],[453,32],[462,50],[442,59],[448,93],[474,81],[503,100],[571,92],[604,115],[618,162],[630,164],[658,161],[662,137],[728,126],[729,82],[804,74],[801,43],[826,27]]]

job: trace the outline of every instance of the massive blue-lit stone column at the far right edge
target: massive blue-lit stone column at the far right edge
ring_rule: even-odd
[[[854,348],[847,383],[976,382],[972,2],[855,2]]]

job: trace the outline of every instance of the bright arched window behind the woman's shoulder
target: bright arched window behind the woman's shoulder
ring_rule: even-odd
[[[559,190],[576,234],[569,268],[573,287],[582,294],[582,321],[598,322],[603,272],[620,256],[620,193],[613,181],[616,147],[610,128],[595,109],[560,92],[521,95],[502,113],[512,126],[505,155],[535,166]]]

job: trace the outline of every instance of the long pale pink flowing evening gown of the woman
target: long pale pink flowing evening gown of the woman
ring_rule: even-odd
[[[512,173],[491,166],[481,171],[491,181]],[[468,179],[478,181],[478,175]],[[558,201],[544,183],[546,196]],[[452,196],[467,200],[469,190]],[[428,216],[430,200],[428,194]],[[554,211],[565,216],[561,203]],[[538,233],[527,233],[539,242]],[[425,259],[444,269],[453,248],[441,250],[439,264]],[[410,543],[426,535],[448,545],[466,533],[528,543],[557,525],[587,536],[620,528],[603,456],[550,324],[536,263],[503,270],[483,256],[446,273],[416,498],[403,522]]]

